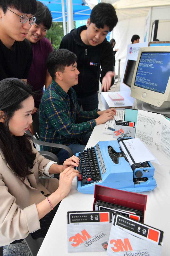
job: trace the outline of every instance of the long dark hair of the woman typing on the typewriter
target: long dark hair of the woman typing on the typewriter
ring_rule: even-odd
[[[36,154],[32,152],[30,136],[11,136],[9,121],[16,110],[22,108],[22,101],[34,93],[29,84],[18,78],[0,81],[0,111],[4,112],[4,122],[0,122],[0,148],[16,176],[24,181],[31,174]]]

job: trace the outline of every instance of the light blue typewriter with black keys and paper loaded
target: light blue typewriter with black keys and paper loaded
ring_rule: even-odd
[[[77,190],[93,194],[95,185],[131,192],[153,190],[157,184],[154,167],[150,162],[135,163],[124,140],[99,141],[94,147],[76,154],[80,158],[77,170]],[[126,152],[124,152],[126,151]]]

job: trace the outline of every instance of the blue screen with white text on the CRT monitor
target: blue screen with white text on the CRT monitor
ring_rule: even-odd
[[[142,52],[135,86],[165,93],[170,76],[170,52]]]

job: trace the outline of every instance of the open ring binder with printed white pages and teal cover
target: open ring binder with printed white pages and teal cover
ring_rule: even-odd
[[[125,121],[136,122],[135,138],[157,148],[170,158],[170,119],[165,115],[125,109]]]

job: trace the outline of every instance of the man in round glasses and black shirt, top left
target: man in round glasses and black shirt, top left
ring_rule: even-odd
[[[0,1],[0,80],[16,77],[27,81],[32,48],[25,39],[36,21],[36,0]]]

